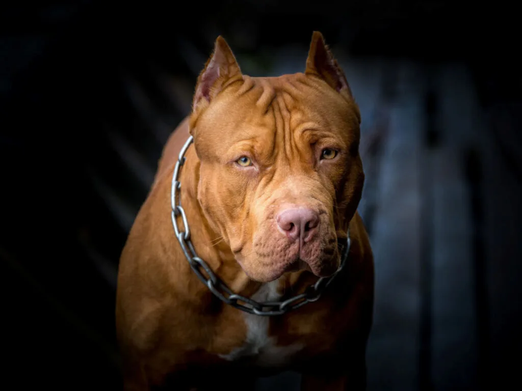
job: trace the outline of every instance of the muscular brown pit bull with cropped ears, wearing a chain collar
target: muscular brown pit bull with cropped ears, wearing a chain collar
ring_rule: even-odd
[[[122,252],[125,390],[246,390],[280,370],[365,388],[360,120],[321,33],[304,73],[275,78],[243,75],[218,37]]]

